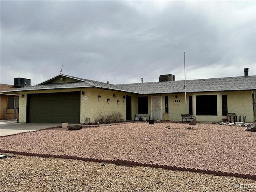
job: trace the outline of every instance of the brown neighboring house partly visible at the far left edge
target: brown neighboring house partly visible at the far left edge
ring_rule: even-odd
[[[18,119],[19,114],[17,108],[19,107],[19,95],[11,93],[2,93],[3,91],[14,90],[13,85],[0,84],[0,119]]]

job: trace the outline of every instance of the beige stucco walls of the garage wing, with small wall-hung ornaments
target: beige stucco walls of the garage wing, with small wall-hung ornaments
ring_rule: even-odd
[[[90,122],[95,122],[97,118],[102,115],[104,117],[113,113],[120,113],[124,120],[126,120],[126,102],[123,102],[123,96],[125,93],[102,90],[97,88],[85,88],[85,89],[69,89],[69,90],[44,90],[44,91],[33,91],[33,92],[22,92],[24,98],[20,97],[20,116],[19,122],[26,122],[26,104],[27,94],[39,94],[39,93],[56,93],[56,92],[72,92],[72,91],[84,91],[84,95],[81,94],[80,101],[80,122],[84,122],[86,118],[90,118]],[[113,94],[116,94],[114,98]],[[98,95],[101,96],[98,101]],[[86,97],[87,99],[84,99]],[[110,99],[109,104],[107,98]],[[119,100],[119,105],[117,104]],[[134,97],[132,96],[132,100]],[[136,108],[138,106],[137,101],[132,101],[132,115],[136,114]],[[87,121],[87,120],[86,120]]]

